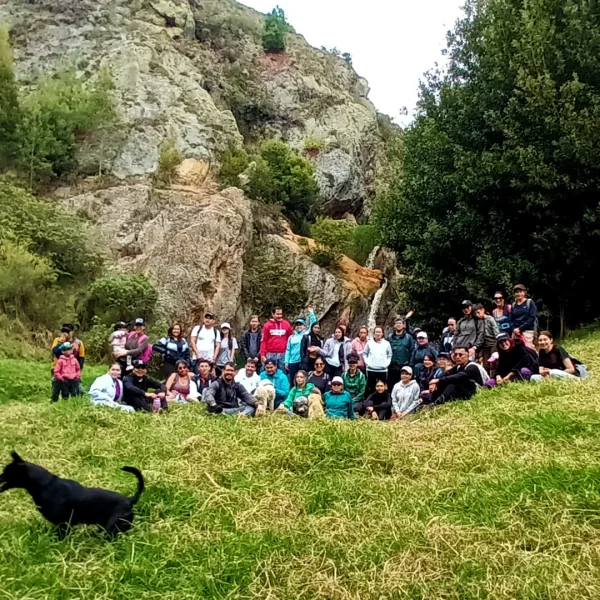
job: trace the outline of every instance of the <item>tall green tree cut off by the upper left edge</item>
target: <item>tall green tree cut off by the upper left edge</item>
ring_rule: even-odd
[[[13,69],[8,30],[0,27],[0,168],[15,158],[19,147],[20,121],[19,87]]]

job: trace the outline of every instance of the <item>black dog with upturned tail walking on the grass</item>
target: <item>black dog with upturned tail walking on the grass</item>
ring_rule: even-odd
[[[13,461],[0,475],[0,493],[16,488],[27,490],[42,515],[58,526],[61,536],[69,526],[79,524],[100,525],[110,536],[131,528],[133,506],[144,491],[144,478],[136,468],[123,467],[138,480],[137,492],[130,498],[61,479],[43,467],[25,462],[16,452],[11,456]]]

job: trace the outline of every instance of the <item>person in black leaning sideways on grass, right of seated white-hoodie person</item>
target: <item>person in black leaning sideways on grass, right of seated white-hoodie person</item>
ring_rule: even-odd
[[[469,361],[470,346],[457,346],[453,353],[455,367],[429,384],[431,404],[439,405],[452,400],[469,400],[486,383],[485,371]]]

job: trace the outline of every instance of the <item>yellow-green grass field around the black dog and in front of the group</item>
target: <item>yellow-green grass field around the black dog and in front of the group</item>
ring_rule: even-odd
[[[600,335],[567,344],[600,372]],[[87,380],[99,371],[86,369]],[[404,423],[121,414],[0,361],[0,457],[147,491],[58,540],[0,496],[0,599],[600,598],[600,384],[513,384]]]

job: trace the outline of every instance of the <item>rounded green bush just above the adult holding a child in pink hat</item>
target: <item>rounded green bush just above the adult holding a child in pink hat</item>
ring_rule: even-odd
[[[94,281],[82,301],[80,323],[112,325],[117,321],[132,321],[137,317],[152,318],[158,294],[145,275],[107,275]]]

